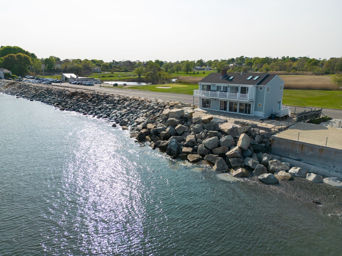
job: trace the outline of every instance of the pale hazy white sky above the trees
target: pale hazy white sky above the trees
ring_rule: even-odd
[[[342,57],[341,0],[11,0],[0,22],[38,58]]]

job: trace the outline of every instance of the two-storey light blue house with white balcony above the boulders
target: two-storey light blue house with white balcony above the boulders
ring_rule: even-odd
[[[194,96],[199,108],[226,114],[255,116],[263,119],[271,115],[290,115],[281,106],[285,82],[278,75],[268,73],[210,73],[199,81]]]

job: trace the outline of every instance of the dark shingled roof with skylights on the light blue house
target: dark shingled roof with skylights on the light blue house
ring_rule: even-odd
[[[233,79],[229,77],[234,76]],[[253,76],[250,80],[248,77]],[[254,77],[260,76],[257,80],[253,80]],[[199,83],[210,83],[210,84],[245,84],[245,85],[266,85],[276,75],[270,75],[268,73],[227,73],[227,75],[221,79],[221,73],[210,73],[204,77]]]

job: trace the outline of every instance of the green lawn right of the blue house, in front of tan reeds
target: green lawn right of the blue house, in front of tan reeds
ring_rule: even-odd
[[[342,90],[284,90],[282,103],[291,106],[342,109]]]

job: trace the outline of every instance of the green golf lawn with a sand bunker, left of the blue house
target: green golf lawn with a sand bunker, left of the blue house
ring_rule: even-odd
[[[157,88],[157,87],[171,87],[171,88]],[[157,91],[159,93],[179,93],[193,95],[194,90],[198,89],[198,84],[159,84],[159,85],[143,85],[130,86],[130,89]]]

